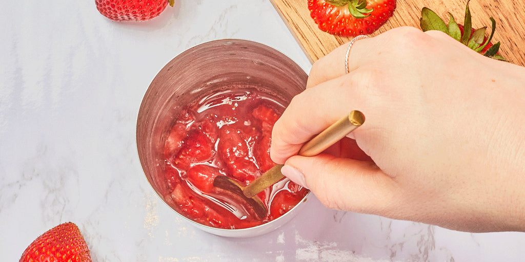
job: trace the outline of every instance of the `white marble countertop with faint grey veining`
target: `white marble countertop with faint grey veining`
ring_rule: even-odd
[[[455,232],[332,211],[314,197],[285,226],[243,239],[199,231],[161,201],[142,172],[135,124],[165,63],[199,43],[240,38],[310,70],[268,0],[177,0],[143,23],[114,23],[92,0],[2,9],[2,261],[68,221],[96,262],[525,261],[525,233]]]

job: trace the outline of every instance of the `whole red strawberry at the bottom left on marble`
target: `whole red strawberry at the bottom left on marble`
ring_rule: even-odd
[[[90,262],[88,245],[77,225],[68,222],[51,228],[31,243],[20,262]]]

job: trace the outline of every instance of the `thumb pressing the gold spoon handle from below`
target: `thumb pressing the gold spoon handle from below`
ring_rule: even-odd
[[[330,209],[387,216],[395,205],[396,183],[371,161],[292,156],[281,172]]]

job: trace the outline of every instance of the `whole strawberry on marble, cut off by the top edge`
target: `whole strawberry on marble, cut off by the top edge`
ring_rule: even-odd
[[[175,0],[95,0],[100,14],[115,21],[144,21],[157,17]]]

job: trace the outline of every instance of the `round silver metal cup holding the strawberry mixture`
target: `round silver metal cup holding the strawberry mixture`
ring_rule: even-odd
[[[174,117],[182,107],[232,84],[256,86],[281,100],[279,102],[283,105],[288,105],[293,96],[304,90],[306,81],[307,74],[290,58],[253,41],[216,40],[179,54],[151,82],[142,100],[137,120],[139,158],[153,190],[164,201],[164,140]],[[270,232],[288,222],[307,198],[308,194],[278,219],[243,229],[210,227],[179,215],[201,230],[215,235],[250,237]]]

